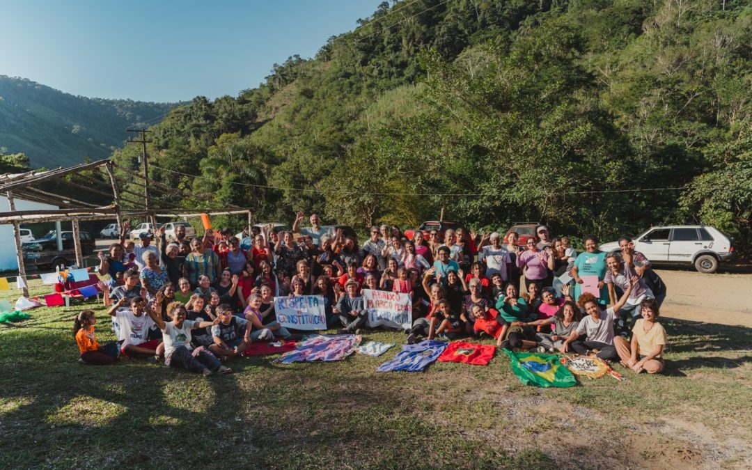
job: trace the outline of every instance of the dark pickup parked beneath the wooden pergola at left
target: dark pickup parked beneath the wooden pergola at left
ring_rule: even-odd
[[[89,256],[94,253],[96,242],[89,232],[78,232],[81,241],[81,255]],[[37,268],[49,269],[55,266],[69,266],[76,260],[73,246],[73,232],[62,232],[62,250],[57,250],[57,233],[51,230],[43,238],[25,243],[21,246],[23,259],[34,263]]]

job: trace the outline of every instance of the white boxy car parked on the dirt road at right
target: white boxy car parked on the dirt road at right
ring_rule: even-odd
[[[697,271],[712,273],[721,261],[734,253],[733,240],[710,226],[682,225],[650,227],[634,239],[635,250],[650,262],[694,265]],[[616,241],[600,246],[605,252],[619,250]]]

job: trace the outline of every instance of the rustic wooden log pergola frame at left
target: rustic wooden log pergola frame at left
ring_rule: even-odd
[[[115,169],[117,168],[117,172]],[[101,179],[89,177],[86,179],[86,185],[80,182],[71,181],[65,178],[68,175],[80,174],[83,171],[95,171],[99,173]],[[120,180],[118,179],[120,174]],[[123,180],[127,178],[127,180]],[[102,180],[108,181],[108,183]],[[140,180],[140,181],[139,181]],[[50,191],[41,190],[40,183],[59,183],[61,186],[70,187],[73,190],[82,193],[89,193],[106,200],[108,205],[96,205],[91,202],[83,202],[73,199],[69,196],[62,196]],[[148,183],[147,183],[148,181]],[[128,186],[128,187],[126,187]],[[144,193],[136,193],[132,186],[137,186],[144,190]],[[152,223],[156,223],[155,217],[200,217],[201,213],[209,215],[240,215],[247,214],[248,226],[253,223],[253,212],[249,209],[238,208],[229,205],[232,210],[202,210],[198,214],[183,214],[180,211],[174,211],[175,208],[155,209],[144,202],[149,201],[150,190],[161,191],[165,195],[175,196],[183,193],[180,190],[171,188],[154,180],[147,180],[142,174],[138,174],[128,168],[115,165],[109,159],[99,160],[97,162],[82,163],[68,168],[55,168],[47,171],[26,171],[20,174],[0,174],[0,194],[8,197],[8,211],[0,212],[0,224],[12,224],[14,229],[14,239],[16,244],[18,270],[23,279],[26,279],[26,268],[23,262],[23,249],[20,238],[21,223],[41,223],[41,222],[63,222],[71,221],[73,226],[73,244],[76,257],[76,264],[83,265],[83,253],[81,252],[79,223],[86,220],[111,220],[116,218],[118,225],[122,226],[123,219],[129,217],[148,217]],[[56,205],[59,209],[34,210],[34,211],[17,211],[15,198],[25,199],[32,202],[41,202],[50,205]],[[128,210],[124,209],[126,205],[132,208],[143,208]],[[58,236],[59,236],[58,232]],[[29,290],[23,288],[23,295],[28,297]]]

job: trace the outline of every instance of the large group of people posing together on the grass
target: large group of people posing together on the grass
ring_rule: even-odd
[[[126,241],[124,224],[120,242],[99,253],[117,343],[100,346],[93,311],[82,311],[74,326],[80,362],[110,364],[126,355],[227,373],[226,361],[254,341],[301,338],[277,322],[275,297],[321,296],[327,327],[359,334],[368,319],[362,290],[371,289],[411,296],[408,344],[486,337],[501,348],[577,353],[636,372],[663,369],[666,332],[656,319],[666,287],[629,238],[604,253],[587,236],[577,253],[546,226],[526,237],[459,228],[415,230],[408,238],[383,225],[360,243],[354,233],[324,229],[317,214],[310,227],[301,226],[304,219],[297,213],[291,231],[272,224],[241,236],[208,229],[193,240],[178,225],[172,240],[162,228],[141,233],[138,244]]]

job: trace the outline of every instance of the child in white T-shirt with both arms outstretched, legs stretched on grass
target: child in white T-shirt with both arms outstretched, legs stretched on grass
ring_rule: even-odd
[[[162,330],[162,337],[165,341],[165,365],[198,372],[205,377],[214,372],[220,374],[232,372],[231,368],[222,365],[217,356],[214,356],[208,349],[203,346],[194,349],[190,344],[193,329],[205,329],[217,325],[220,323],[219,318],[211,322],[186,320],[186,308],[180,302],[172,302],[167,306],[168,315],[172,319],[169,322],[162,320],[162,317],[148,306],[145,310],[156,326]]]

